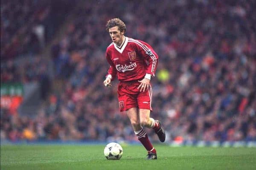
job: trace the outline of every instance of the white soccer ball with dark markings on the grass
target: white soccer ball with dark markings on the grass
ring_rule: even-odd
[[[106,145],[104,155],[107,159],[119,160],[122,157],[122,147],[120,144],[111,142]]]

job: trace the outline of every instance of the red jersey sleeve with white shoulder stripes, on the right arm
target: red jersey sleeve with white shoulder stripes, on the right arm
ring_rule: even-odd
[[[146,74],[150,74],[151,77],[154,77],[157,63],[158,63],[158,55],[154,51],[154,49],[148,45],[146,42],[137,41],[136,43],[138,52],[140,55],[148,62],[148,68]]]

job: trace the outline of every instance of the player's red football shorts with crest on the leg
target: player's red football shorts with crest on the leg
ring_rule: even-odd
[[[119,82],[117,87],[117,97],[120,111],[126,111],[130,108],[148,109],[152,111],[152,88],[148,91],[140,92],[137,89],[140,85],[138,81]]]

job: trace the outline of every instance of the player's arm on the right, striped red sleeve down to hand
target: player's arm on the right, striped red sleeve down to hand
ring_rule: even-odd
[[[154,49],[145,42],[138,42],[136,45],[140,55],[143,56],[143,58],[145,58],[145,60],[148,62],[145,77],[143,80],[139,81],[140,85],[138,89],[140,89],[140,91],[147,91],[150,86],[150,79],[151,77],[154,77],[156,72],[158,55]]]

